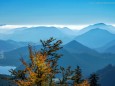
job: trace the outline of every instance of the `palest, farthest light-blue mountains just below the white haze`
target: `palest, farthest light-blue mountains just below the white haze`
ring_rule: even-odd
[[[89,25],[79,31],[71,30],[67,27],[57,28],[45,26],[8,29],[7,32],[4,30],[0,29],[0,32],[2,32],[0,33],[0,39],[23,42],[39,42],[40,39],[46,40],[54,37],[63,40],[63,44],[76,40],[87,47],[100,48],[115,40],[115,27],[104,23]]]

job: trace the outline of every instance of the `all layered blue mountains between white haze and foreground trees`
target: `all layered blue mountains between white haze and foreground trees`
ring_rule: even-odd
[[[74,68],[79,65],[85,76],[104,68],[107,64],[115,64],[114,27],[98,23],[80,31],[66,27],[23,27],[12,29],[10,33],[0,33],[0,51],[5,51],[0,65],[16,66],[20,69],[20,57],[29,62],[28,43],[35,43],[33,47],[38,50],[41,48],[39,40],[50,37],[64,42],[63,49],[58,52],[63,54],[59,65],[71,65]]]

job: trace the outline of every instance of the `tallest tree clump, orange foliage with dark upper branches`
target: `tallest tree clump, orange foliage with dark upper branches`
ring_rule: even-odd
[[[52,86],[52,79],[59,72],[57,61],[62,56],[56,51],[61,49],[61,40],[55,42],[50,38],[41,41],[43,48],[40,51],[33,51],[29,45],[30,63],[21,59],[25,66],[24,70],[11,70],[14,80],[18,86]]]

